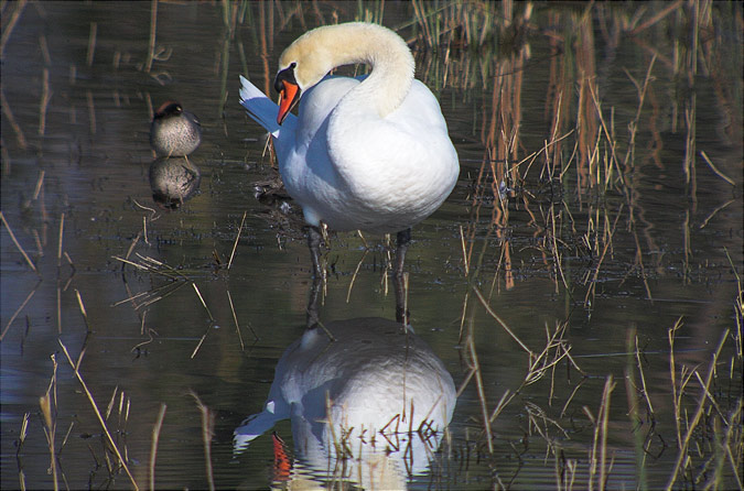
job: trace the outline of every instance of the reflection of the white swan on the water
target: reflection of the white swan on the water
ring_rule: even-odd
[[[366,489],[405,489],[428,469],[455,401],[452,377],[410,327],[333,321],[284,351],[263,411],[235,429],[235,451],[289,418],[298,461],[278,480],[303,480],[304,467]]]

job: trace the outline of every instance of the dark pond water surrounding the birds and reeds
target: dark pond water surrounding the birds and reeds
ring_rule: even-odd
[[[108,470],[117,458],[107,449],[61,343],[74,359],[85,347],[80,374],[101,412],[112,401],[107,425],[141,488],[148,487],[152,429],[162,404],[166,410],[158,443],[157,487],[207,485],[202,416],[192,393],[215,417],[211,447],[215,484],[265,489],[271,483],[270,436],[257,438],[245,454],[234,457],[233,430],[244,417],[261,411],[279,357],[303,332],[311,265],[298,209],[288,216],[276,204],[254,196],[255,184],[272,177],[273,171],[262,155],[261,130],[237,103],[238,75],[247,72],[263,88],[281,50],[300,33],[336,17],[355,20],[359,10],[375,11],[379,4],[236,7],[238,22],[230,35],[219,6],[159,4],[155,48],[170,56],[155,59],[150,74],[143,70],[150,3],[32,3],[12,29],[2,58],[2,214],[39,274],[3,225],[3,489],[53,487],[39,399],[47,392],[55,360],[54,447],[61,485],[131,487],[122,470]],[[3,36],[17,8],[17,3],[3,7]],[[708,51],[700,51],[693,89],[686,85],[686,73],[676,68],[683,46],[672,34],[662,35],[665,29],[687,25],[680,13],[666,18],[660,24],[665,29],[630,35],[632,28],[623,22],[636,13],[647,20],[651,12],[612,12],[604,7],[590,12],[593,76],[608,131],[617,134],[621,161],[627,154],[628,122],[638,107],[629,76],[643,84],[657,55],[633,168],[624,176],[625,185],[606,189],[581,185],[578,157],[568,164],[574,134],[562,150],[563,182],[548,186],[540,175],[541,157],[521,174],[524,182],[507,183],[516,193],[503,207],[493,199],[490,161],[484,155],[497,146],[487,141],[489,124],[495,122],[495,134],[506,124],[494,109],[494,84],[507,79],[504,70],[515,72],[515,65],[503,61],[514,59],[518,51],[510,52],[504,43],[488,50],[451,46],[449,53],[440,46],[434,53],[422,37],[413,42],[421,30],[410,26],[416,18],[411,6],[385,9],[384,23],[402,26],[400,32],[412,41],[419,77],[440,97],[462,165],[452,196],[413,231],[407,262],[411,323],[457,388],[467,380],[471,346],[475,348],[488,414],[506,391],[519,390],[490,425],[490,454],[473,378],[457,400],[451,440],[442,445],[432,470],[411,478],[410,485],[550,488],[557,487],[557,461],[572,461],[574,487],[586,487],[594,441],[587,413],[599,414],[608,375],[616,385],[607,416],[607,459],[614,459],[607,487],[666,484],[677,457],[668,330],[679,319],[678,377],[684,365],[698,368],[704,379],[712,353],[730,329],[714,386],[721,414],[730,414],[742,397],[741,354],[736,356],[741,318],[734,305],[738,295],[734,269],[741,276],[744,237],[741,6],[716,6],[714,29],[701,30],[701,36],[727,47],[714,45],[716,51],[705,45]],[[573,55],[565,47],[576,46],[581,39],[571,31],[582,12],[571,6],[538,6],[532,12],[521,40],[529,45],[529,56],[518,70],[519,138],[509,162],[519,162],[551,140],[556,66],[551,64],[558,61],[558,68],[572,69]],[[607,26],[607,19],[615,22]],[[614,37],[603,34],[621,26],[625,31]],[[561,42],[563,51],[551,51],[560,36],[568,40]],[[445,66],[451,67],[446,81]],[[504,78],[496,76],[499,69]],[[578,87],[573,80],[564,95],[570,98],[567,110],[572,121]],[[190,156],[201,170],[201,192],[174,211],[152,201],[149,183],[150,111],[168,99],[180,100],[204,127],[202,146]],[[683,172],[690,134],[686,110],[696,122],[696,172],[690,184]],[[574,127],[572,122],[565,132]],[[610,154],[606,139],[597,149],[602,159]],[[714,173],[700,152],[734,184]],[[484,162],[483,183],[490,194],[481,196]],[[498,214],[503,209],[508,217]],[[556,223],[551,216],[558,216]],[[473,251],[467,266],[461,227],[465,247]],[[368,251],[354,233],[332,238],[327,254],[332,274],[320,310],[325,321],[395,318],[392,286],[384,281],[385,249],[380,238],[365,239]],[[136,254],[152,258],[179,270],[197,288],[131,265],[122,269],[115,258],[125,258],[134,241],[131,261],[143,261]],[[553,257],[551,243],[560,258]],[[528,354],[483,308],[473,286],[535,352],[546,346],[547,332],[565,323],[563,340],[586,377],[563,359],[554,371],[522,386]],[[638,392],[629,390],[640,383],[635,345],[628,343],[633,332],[641,351],[654,426],[643,395],[636,401]],[[683,397],[690,414],[700,393],[694,380]],[[26,413],[28,435],[17,456]],[[289,422],[274,429],[291,448]],[[705,447],[707,440],[700,441]],[[691,472],[699,476],[699,467]],[[722,472],[724,488],[735,485],[731,467],[724,466]]]

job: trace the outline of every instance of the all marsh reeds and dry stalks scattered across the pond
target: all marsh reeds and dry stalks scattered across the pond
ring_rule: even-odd
[[[12,6],[12,11],[9,13],[3,11],[0,55],[4,52],[25,1],[9,6]],[[333,9],[333,4],[331,6]],[[721,8],[720,4],[718,7]],[[343,12],[343,9],[330,12],[327,4],[322,2],[320,7],[317,2],[312,4],[259,2],[257,6],[250,2],[223,2],[222,8],[227,31],[224,33],[216,68],[222,81],[218,108],[220,112],[226,101],[229,101],[226,77],[233,40],[240,41],[238,24],[252,26],[247,35],[255,37],[263,66],[263,73],[254,74],[254,79],[257,84],[262,80],[268,92],[272,77],[271,56],[276,54],[273,42],[278,32],[293,23],[304,29],[313,26],[314,22],[344,20],[343,13],[338,13]],[[3,9],[10,7],[3,6]],[[715,97],[719,106],[722,108],[741,106],[732,103],[737,95],[730,94],[725,89],[727,85],[732,85],[726,84],[726,77],[732,76],[732,72],[736,78],[741,75],[740,70],[729,69],[730,65],[725,59],[729,53],[727,40],[715,32],[715,21],[720,21],[719,17],[722,14],[715,11],[712,2],[697,0],[641,6],[633,11],[615,9],[611,4],[587,3],[579,8],[571,6],[568,9],[546,13],[549,18],[548,28],[538,29],[535,17],[541,9],[543,8],[515,4],[510,1],[502,3],[416,1],[411,4],[410,21],[397,26],[413,47],[419,67],[417,75],[420,78],[445,96],[450,91],[482,90],[485,101],[472,122],[472,133],[482,148],[482,157],[474,167],[477,172],[474,172],[474,176],[467,183],[471,189],[467,199],[470,218],[466,223],[459,226],[461,250],[457,252],[462,254],[463,276],[467,283],[462,312],[459,315],[461,327],[459,341],[465,370],[457,395],[462,395],[474,385],[479,421],[475,425],[466,426],[464,436],[446,435],[442,449],[444,455],[451,457],[444,462],[446,471],[457,476],[478,466],[488,466],[494,470],[490,472],[494,488],[506,489],[518,485],[520,483],[518,474],[527,461],[526,454],[531,444],[531,450],[539,448],[544,452],[543,463],[552,466],[558,489],[611,488],[613,474],[616,472],[617,455],[617,448],[613,444],[613,432],[617,430],[617,426],[622,427],[622,424],[611,421],[611,412],[613,408],[622,407],[622,401],[625,400],[628,418],[626,428],[633,433],[636,450],[635,478],[638,488],[648,485],[648,474],[651,470],[658,473],[661,455],[667,454],[665,457],[668,457],[671,452],[673,458],[672,466],[668,469],[667,489],[680,487],[742,489],[744,435],[741,373],[744,294],[738,276],[741,265],[731,258],[732,275],[735,277],[737,288],[733,299],[734,323],[711,350],[708,363],[690,365],[680,357],[679,338],[687,334],[682,317],[668,329],[666,352],[646,352],[636,327],[633,326],[626,332],[626,352],[623,353],[626,361],[622,382],[617,374],[591,373],[580,367],[581,359],[572,354],[569,320],[559,319],[553,327],[546,325],[544,339],[522,340],[518,336],[518,330],[509,326],[493,306],[494,298],[502,288],[509,291],[518,287],[514,270],[515,264],[518,264],[520,251],[510,231],[514,225],[513,217],[518,212],[529,217],[528,227],[533,233],[530,238],[532,239],[530,248],[537,251],[536,269],[542,268],[547,271],[556,292],[564,294],[567,302],[576,305],[576,308],[583,308],[587,316],[591,316],[596,304],[595,298],[597,290],[602,287],[603,277],[617,277],[624,282],[637,276],[644,284],[647,299],[655,298],[654,284],[649,281],[649,276],[659,268],[658,261],[651,255],[651,251],[657,251],[659,247],[649,232],[654,222],[644,215],[641,205],[644,196],[636,184],[637,176],[645,165],[650,164],[664,170],[665,164],[659,156],[662,128],[657,121],[661,109],[656,101],[656,92],[660,90],[657,80],[666,77],[668,73],[673,74],[675,81],[679,84],[670,111],[672,132],[683,133],[684,159],[681,168],[687,196],[693,204],[696,203],[699,174],[703,171],[709,172],[708,170],[730,184],[733,189],[741,189],[738,176],[732,178],[721,171],[712,154],[709,155],[697,141],[698,100],[692,88],[696,77],[700,75],[699,70],[715,79],[718,87]],[[359,20],[384,21],[385,2],[359,3],[356,15]],[[741,19],[732,17],[734,18],[732,22],[741,24]],[[161,69],[158,63],[168,61],[172,48],[158,45],[157,21],[158,2],[153,1],[149,47],[141,69],[163,83],[170,78],[170,74]],[[648,32],[654,32],[657,39],[665,40],[667,33],[671,33],[669,36],[673,45],[672,53],[667,53],[662,46],[645,44],[646,41],[638,34]],[[536,61],[530,44],[538,35],[548,40],[549,80],[544,101],[546,137],[541,142],[533,143],[522,134],[525,110],[522,98],[525,70]],[[97,59],[95,57],[97,36],[98,25],[95,22],[90,23],[85,55],[85,64],[88,67]],[[632,41],[641,45],[647,53],[637,72],[632,73],[624,68],[627,87],[635,91],[636,97],[635,110],[629,114],[622,113],[613,106],[612,98],[603,92],[600,84],[603,75],[597,73],[594,65],[600,41],[611,48],[621,42]],[[39,43],[46,65],[51,65],[45,37],[42,36]],[[244,72],[247,74],[242,43],[238,42],[237,46]],[[71,66],[72,79],[76,78],[75,74],[75,66]],[[14,143],[22,150],[29,146],[26,134],[44,135],[48,131],[47,113],[54,89],[47,68],[41,70],[40,76],[42,87],[39,99],[39,123],[34,128],[36,131],[29,132],[22,128],[12,111],[12,102],[8,101],[4,92],[0,90],[6,118],[3,126],[7,123],[7,128],[12,130]],[[89,133],[95,135],[97,122],[93,92],[87,90],[85,98]],[[732,119],[735,119],[735,114]],[[734,135],[732,140],[736,140],[737,134],[734,127],[732,124],[723,130]],[[11,170],[11,159],[6,145],[10,139],[6,140],[7,138],[3,134],[3,175],[9,175]],[[646,157],[648,162],[639,161],[641,154],[648,155]],[[273,160],[272,154],[269,154],[269,160]],[[701,165],[702,163],[704,165]],[[3,326],[0,340],[21,313],[32,304],[42,279],[48,279],[51,275],[39,266],[39,259],[44,255],[45,249],[46,253],[52,249],[51,253],[56,259],[56,320],[57,331],[63,332],[62,310],[65,305],[62,293],[71,285],[75,265],[64,249],[64,212],[58,215],[56,244],[51,243],[54,240],[54,231],[50,231],[52,239],[47,240],[46,229],[55,220],[46,212],[45,183],[44,171],[41,171],[33,197],[22,204],[24,211],[35,214],[34,218],[41,223],[39,229],[34,228],[31,233],[36,249],[35,257],[33,248],[26,252],[22,247],[22,243],[32,243],[32,240],[23,237],[22,229],[19,229],[21,231],[17,237],[13,229],[18,223],[11,220],[13,221],[11,227],[0,211],[3,228],[8,231],[15,250],[28,268],[40,277],[40,283],[29,292]],[[707,227],[716,214],[738,201],[735,197],[726,200],[708,214],[699,228]],[[227,271],[233,265],[245,219],[246,214],[233,242]],[[126,299],[116,304],[132,306],[140,316],[140,334],[149,338],[137,345],[133,350],[152,342],[158,335],[152,328],[147,327],[148,308],[183,286],[192,286],[193,295],[198,298],[207,317],[212,323],[215,321],[194,280],[203,274],[203,270],[174,268],[141,251],[136,252],[138,246],[149,243],[148,227],[152,221],[152,217],[142,217],[141,230],[137,232],[127,253],[114,258],[121,262],[122,270],[128,266],[128,273],[133,269],[137,274],[164,281],[161,286],[145,292],[137,294],[130,292]],[[705,261],[705,258],[694,255],[691,243],[694,223],[690,209],[687,209],[679,223],[684,234],[686,281],[690,281],[696,261],[700,263]],[[617,266],[613,264],[615,250],[621,244],[627,243],[635,250],[634,263],[618,273]],[[497,260],[489,263],[489,254],[494,248],[497,251]],[[60,269],[64,265],[63,258],[71,269],[67,279],[62,277],[60,273]],[[352,296],[352,288],[365,258],[366,252],[352,276],[347,299]],[[389,265],[389,254],[386,258],[386,264]],[[327,254],[323,260],[326,270]],[[219,265],[222,266],[222,263]],[[387,292],[387,273],[382,274],[380,281]],[[128,291],[129,287],[127,284]],[[325,287],[324,283],[323,292]],[[88,316],[79,290],[74,291],[82,323],[86,331],[91,332],[95,330],[94,320]],[[229,290],[227,297],[237,337],[241,350],[245,351],[239,316]],[[483,317],[487,319],[485,326],[495,326],[505,331],[509,342],[514,342],[525,357],[522,379],[514,386],[504,388],[496,396],[490,395],[492,381],[484,373],[484,360],[478,358],[484,347],[477,345],[475,334],[484,328],[484,323],[481,321]],[[258,339],[252,327],[250,325],[248,327]],[[193,350],[192,358],[197,354],[211,328],[212,324]],[[130,473],[131,459],[126,445],[130,406],[137,401],[132,403],[123,390],[116,388],[106,410],[100,411],[80,371],[85,348],[80,350],[77,360],[73,360],[62,341],[60,346],[103,430],[103,457],[99,458],[100,452],[90,448],[97,466],[105,466],[108,471],[108,483],[114,481],[116,474],[125,472],[131,485],[137,489],[138,483]],[[650,385],[647,381],[649,359],[653,357],[668,359],[668,392]],[[50,384],[39,400],[39,408],[48,448],[50,484],[58,489],[60,481],[62,487],[68,487],[65,483],[66,477],[60,455],[73,435],[73,423],[67,426],[65,433],[66,425],[58,421],[60,367],[56,356],[52,357],[52,363]],[[571,380],[571,377],[565,377],[568,380],[564,380],[563,373],[574,374],[576,380]],[[599,381],[602,384],[600,390],[595,390]],[[561,399],[557,395],[560,392],[568,393],[568,396]],[[215,413],[195,393],[192,395],[202,415],[207,483],[214,488],[212,441]],[[591,404],[579,402],[590,397],[593,401]],[[671,417],[661,410],[665,406],[671,406]],[[152,417],[154,427],[151,433],[148,473],[151,489],[157,484],[155,460],[165,410],[165,404],[161,404],[159,414]],[[496,424],[511,416],[507,410],[517,412],[527,422],[524,425],[524,446],[520,446],[520,443],[499,439]],[[621,411],[625,411],[625,407]],[[17,457],[21,489],[25,488],[25,472],[21,459],[24,445],[29,438],[35,436],[29,430],[30,422],[33,423],[34,418],[34,414],[25,413],[19,428]],[[517,423],[508,421],[507,424]],[[386,429],[395,435],[401,432],[399,426],[399,421],[391,421],[389,428]],[[427,428],[408,428],[408,432],[429,435]],[[64,437],[60,438],[63,433]],[[583,443],[575,444],[572,440]],[[388,443],[393,441],[390,437]],[[334,435],[334,443],[339,455],[349,455],[354,445],[347,435]],[[499,469],[503,460],[497,460],[496,454],[503,451],[504,447],[510,448],[509,457],[519,461],[519,467],[511,476],[503,471],[503,468]],[[344,459],[336,463],[344,466]],[[338,467],[335,472],[341,480],[346,470]],[[442,487],[451,484],[450,476],[439,474],[438,479],[441,479],[438,483]],[[334,483],[337,482],[332,480],[332,485]]]

